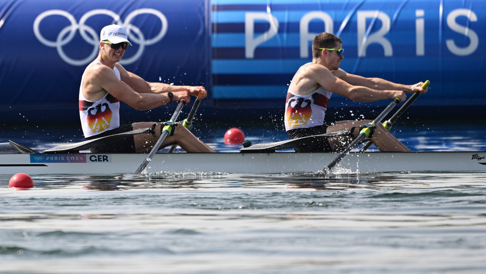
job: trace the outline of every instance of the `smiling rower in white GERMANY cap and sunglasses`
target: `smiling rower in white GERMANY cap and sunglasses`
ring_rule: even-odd
[[[119,62],[129,46],[131,43],[123,27],[108,25],[101,30],[98,57],[87,66],[79,88],[79,114],[87,140],[140,128],[151,128],[155,124],[137,122],[122,125],[120,101],[136,110],[150,110],[172,101],[186,100],[189,103],[191,95],[199,99],[207,96],[204,87],[151,83],[127,72]],[[155,133],[160,133],[160,124],[154,129]],[[157,140],[158,136],[142,133],[110,144],[91,147],[90,150],[94,153],[149,152]],[[174,144],[187,152],[214,152],[181,125],[174,127],[161,147]]]

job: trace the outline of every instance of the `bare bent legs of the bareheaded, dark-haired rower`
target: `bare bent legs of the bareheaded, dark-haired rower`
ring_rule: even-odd
[[[350,130],[355,127],[353,136],[337,136],[330,137],[329,143],[333,151],[343,151],[349,146],[353,139],[355,139],[360,132],[360,127],[364,124],[372,122],[371,120],[363,121],[340,121],[335,125],[329,126],[327,132],[336,132],[340,130]],[[369,138],[364,140],[370,140]],[[383,152],[395,152],[395,151],[410,151],[405,145],[403,145],[395,136],[393,136],[382,124],[378,124],[375,128],[375,132],[371,137],[371,141],[375,146]]]

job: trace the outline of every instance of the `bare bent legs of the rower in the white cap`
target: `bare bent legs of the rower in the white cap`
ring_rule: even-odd
[[[152,122],[139,122],[133,123],[133,129],[139,128],[151,128],[152,125],[156,123]],[[157,136],[160,134],[160,125],[156,126]],[[154,137],[151,134],[137,134],[134,136],[135,139],[135,150],[139,153],[150,152],[152,147],[155,146],[158,137]],[[214,152],[212,148],[206,145],[204,142],[199,140],[194,134],[191,133],[187,128],[177,123],[177,127],[174,129],[173,136],[167,136],[160,148],[168,146],[169,144],[177,144],[186,152]]]

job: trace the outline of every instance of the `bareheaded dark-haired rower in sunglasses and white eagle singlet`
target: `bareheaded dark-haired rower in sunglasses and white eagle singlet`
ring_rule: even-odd
[[[298,152],[343,151],[360,132],[360,127],[372,121],[324,122],[331,95],[338,94],[358,102],[385,99],[406,99],[405,92],[427,92],[422,82],[401,85],[381,78],[365,78],[347,73],[339,68],[344,59],[343,41],[330,34],[321,33],[312,42],[312,63],[300,67],[287,91],[285,104],[285,130],[290,139],[337,131],[350,134],[327,138],[325,142],[311,142],[295,148]],[[397,138],[378,123],[371,141],[381,151],[409,151]],[[366,139],[368,140],[368,139]]]

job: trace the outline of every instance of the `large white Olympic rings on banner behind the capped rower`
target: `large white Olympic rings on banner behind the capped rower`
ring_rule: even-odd
[[[152,14],[155,15],[157,18],[160,19],[160,22],[162,23],[162,27],[160,29],[160,32],[156,35],[156,37],[153,37],[151,39],[145,39],[143,33],[140,31],[140,29],[132,24],[130,24],[130,21],[135,18],[136,16],[139,16],[141,14]],[[57,38],[55,41],[51,41],[46,39],[42,34],[40,33],[39,30],[39,25],[40,22],[49,16],[52,15],[59,15],[67,18],[69,22],[71,23],[69,26],[65,27],[64,29],[59,32],[57,35]],[[90,26],[87,26],[85,23],[88,18],[94,16],[94,15],[107,15],[111,18],[113,18],[118,24],[123,26],[128,34],[128,37],[130,37],[130,42],[132,43],[137,43],[139,44],[139,50],[133,55],[131,58],[128,59],[123,59],[121,60],[121,64],[131,64],[138,60],[140,56],[143,54],[143,50],[145,46],[155,44],[156,42],[160,41],[165,34],[167,33],[167,18],[165,15],[158,10],[155,9],[137,9],[132,11],[128,16],[125,18],[125,21],[120,20],[120,16],[116,14],[113,11],[106,10],[106,9],[96,9],[96,10],[91,10],[87,13],[85,13],[81,19],[79,20],[79,23],[76,22],[76,19],[74,16],[72,16],[69,12],[63,11],[63,10],[48,10],[45,11],[41,14],[39,14],[35,20],[34,20],[34,34],[35,37],[44,45],[53,47],[57,49],[57,53],[59,56],[68,64],[74,65],[74,66],[82,66],[86,65],[87,63],[91,62],[96,58],[98,55],[98,49],[99,49],[99,43],[100,43],[100,35],[98,32],[96,32],[93,28]],[[66,44],[68,44],[76,34],[76,31],[80,32],[81,37],[85,39],[85,41],[88,44],[91,44],[94,46],[93,52],[86,57],[85,59],[82,60],[74,60],[70,58],[68,55],[66,55],[62,49],[62,47]],[[131,35],[135,34],[135,35]]]

